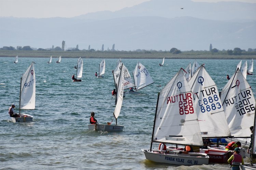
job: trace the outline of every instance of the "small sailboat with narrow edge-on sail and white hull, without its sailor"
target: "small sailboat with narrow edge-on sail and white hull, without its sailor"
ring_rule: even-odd
[[[116,119],[116,124],[111,125],[111,123],[108,124],[89,124],[88,129],[89,130],[97,130],[97,131],[107,131],[107,132],[119,132],[123,131],[124,126],[123,125],[117,125],[117,118],[120,114],[122,103],[123,103],[123,94],[124,94],[124,75],[123,75],[124,69],[123,65],[121,66],[120,70],[120,76],[118,80],[118,87],[116,92],[116,107],[114,111],[114,117]]]

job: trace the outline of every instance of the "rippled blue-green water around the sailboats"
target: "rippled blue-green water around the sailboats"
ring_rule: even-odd
[[[79,57],[77,57],[79,58]],[[126,95],[117,123],[124,125],[118,133],[89,131],[90,112],[99,123],[113,120],[115,99],[112,70],[118,59],[105,59],[103,79],[95,78],[102,59],[83,59],[82,82],[72,82],[77,59],[62,58],[47,64],[49,58],[0,57],[0,169],[230,169],[229,165],[173,166],[145,159],[141,149],[149,149],[152,136],[157,92],[193,60],[124,59],[132,73],[140,61],[150,72],[154,84],[140,90],[141,94]],[[33,122],[12,123],[8,108],[19,104],[20,75],[34,61],[36,76],[35,110],[22,113],[34,116]],[[240,60],[197,60],[221,89]],[[242,61],[242,64],[245,60]],[[250,61],[248,60],[247,63]],[[254,75],[247,81],[256,92]],[[161,85],[161,87],[157,87]],[[15,108],[18,112],[18,107]],[[113,120],[114,122],[115,120]],[[154,148],[158,147],[156,143]]]

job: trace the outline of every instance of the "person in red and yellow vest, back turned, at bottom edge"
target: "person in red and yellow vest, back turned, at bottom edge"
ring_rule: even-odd
[[[237,147],[234,149],[234,153],[228,159],[228,163],[231,165],[231,170],[240,170],[240,164],[244,165],[244,159],[240,155],[240,149]]]

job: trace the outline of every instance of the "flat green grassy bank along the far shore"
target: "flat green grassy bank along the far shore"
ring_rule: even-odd
[[[42,57],[47,58],[53,56],[57,58],[61,55],[62,58],[149,58],[160,59],[239,59],[249,60],[256,59],[256,55],[227,55],[226,52],[211,53],[208,51],[182,52],[181,54],[171,54],[169,52],[122,52],[122,51],[20,51],[20,50],[1,50],[0,57]]]

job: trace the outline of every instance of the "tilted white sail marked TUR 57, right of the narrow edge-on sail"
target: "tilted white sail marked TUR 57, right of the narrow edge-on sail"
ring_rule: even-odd
[[[152,83],[153,79],[150,76],[150,73],[147,71],[146,67],[143,66],[140,62],[136,65],[133,71],[133,79],[136,85],[136,90],[142,89]]]

